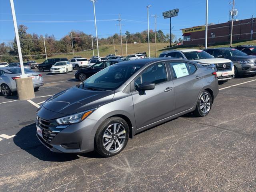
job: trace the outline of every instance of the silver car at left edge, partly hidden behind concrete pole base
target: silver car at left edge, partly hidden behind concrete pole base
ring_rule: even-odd
[[[34,90],[38,90],[44,85],[42,74],[24,68],[25,74],[33,80]],[[20,78],[20,67],[1,67],[0,68],[0,87],[3,96],[10,96],[16,91],[15,79]]]

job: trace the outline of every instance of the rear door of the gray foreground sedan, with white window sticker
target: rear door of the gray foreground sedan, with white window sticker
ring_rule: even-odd
[[[175,114],[194,106],[202,90],[202,69],[184,61],[169,62],[172,69],[175,92]]]

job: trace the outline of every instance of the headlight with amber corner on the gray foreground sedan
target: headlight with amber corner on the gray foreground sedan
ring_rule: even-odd
[[[94,112],[94,110],[96,110],[96,108],[92,110],[79,112],[73,115],[65,116],[62,118],[58,118],[56,119],[56,121],[59,125],[79,123],[85,118],[87,118],[92,112]]]

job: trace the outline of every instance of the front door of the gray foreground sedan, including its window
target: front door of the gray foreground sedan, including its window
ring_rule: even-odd
[[[139,86],[143,82],[155,83],[154,90],[141,92]],[[154,122],[174,115],[174,85],[164,62],[149,66],[132,81],[132,85],[134,114],[138,129],[147,128]]]

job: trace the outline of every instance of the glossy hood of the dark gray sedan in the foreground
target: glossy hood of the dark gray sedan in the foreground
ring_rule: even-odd
[[[68,115],[96,108],[110,102],[113,97],[114,91],[84,90],[74,86],[52,96],[43,107]]]

